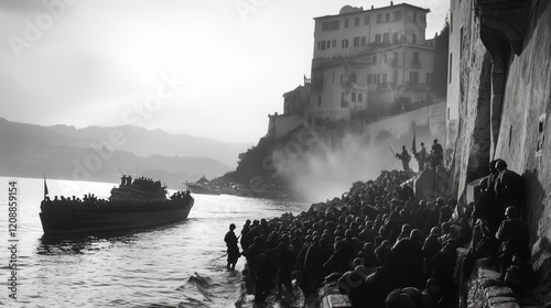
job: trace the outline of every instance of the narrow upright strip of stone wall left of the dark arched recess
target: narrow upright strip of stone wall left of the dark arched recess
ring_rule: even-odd
[[[464,20],[473,20],[471,6],[460,8]],[[457,29],[455,29],[457,31]],[[490,109],[490,57],[480,42],[479,24],[471,23],[462,28],[457,42],[460,54],[458,74],[452,72],[458,105],[456,132],[450,133],[447,144],[454,152],[453,169],[455,186],[461,194],[467,183],[487,174],[489,162],[489,109]],[[450,98],[450,97],[449,97]],[[454,98],[455,99],[455,98]],[[447,125],[450,130],[450,124]]]

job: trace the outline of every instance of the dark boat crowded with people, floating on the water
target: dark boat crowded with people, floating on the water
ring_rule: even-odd
[[[111,189],[107,200],[90,194],[83,200],[50,200],[44,178],[42,229],[45,235],[88,234],[151,228],[186,219],[194,205],[190,190],[177,191],[170,198],[166,194],[160,182],[138,178],[131,183],[129,177]]]

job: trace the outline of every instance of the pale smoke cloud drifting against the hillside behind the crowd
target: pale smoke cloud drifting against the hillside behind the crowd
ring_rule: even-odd
[[[273,153],[273,157],[277,157],[274,165],[279,175],[307,201],[318,202],[341,197],[357,180],[375,179],[386,169],[402,169],[401,162],[392,156],[390,147],[398,153],[406,145],[412,154],[413,131],[417,150],[424,142],[430,152],[435,134],[430,132],[429,125],[414,128],[413,123],[395,123],[390,131],[387,128],[364,134],[317,138],[309,148],[302,147],[303,151],[294,150],[292,154],[289,150]],[[410,168],[419,170],[414,157],[410,161]]]

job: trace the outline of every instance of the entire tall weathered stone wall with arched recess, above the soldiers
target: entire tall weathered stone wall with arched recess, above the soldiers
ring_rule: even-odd
[[[522,218],[530,227],[532,261],[538,273],[534,290],[542,301],[549,304],[551,144],[545,139],[551,134],[551,6],[549,1],[523,1],[526,6],[517,12],[520,15],[525,10],[525,20],[504,19],[509,24],[522,26],[504,29],[503,33],[509,36],[500,37],[496,33],[504,23],[498,26],[497,23],[484,24],[489,18],[473,16],[473,3],[464,1],[462,8],[454,11],[456,15],[463,14],[464,21],[461,41],[455,41],[455,52],[462,54],[461,81],[452,89],[458,91],[460,110],[454,145],[456,189],[458,195],[464,194],[466,183],[486,174],[491,158],[505,160],[509,169],[522,175],[527,188]],[[487,8],[483,8],[482,14],[484,9]],[[493,10],[489,9],[491,14],[486,16],[512,13],[503,8]],[[518,30],[515,34],[517,37],[521,35],[522,40],[510,35],[511,29]],[[491,44],[500,41],[510,45]],[[491,114],[497,117],[493,122]],[[491,148],[490,141],[495,148]]]

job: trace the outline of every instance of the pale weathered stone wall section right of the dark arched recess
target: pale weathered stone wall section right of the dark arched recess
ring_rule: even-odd
[[[506,79],[496,157],[504,157],[527,184],[523,217],[531,229],[539,290],[551,302],[551,6],[533,10],[525,47]]]

